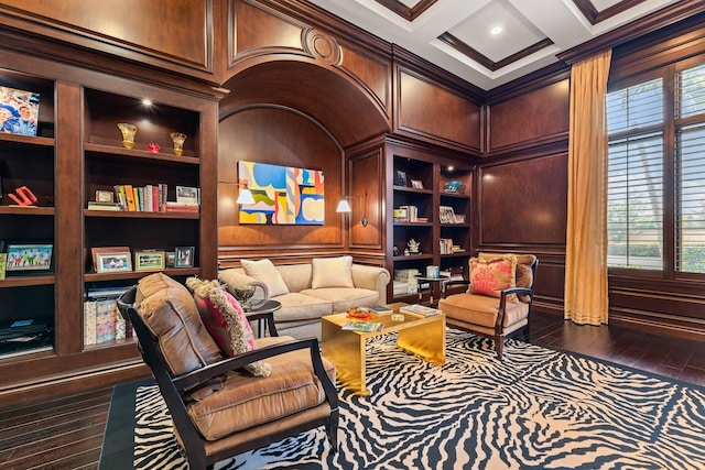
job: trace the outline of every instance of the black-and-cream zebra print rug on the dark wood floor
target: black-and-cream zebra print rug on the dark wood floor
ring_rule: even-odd
[[[338,389],[339,447],[323,428],[217,469],[705,469],[705,390],[448,328],[446,364],[368,340],[369,397]],[[134,468],[185,469],[156,385],[137,391]]]

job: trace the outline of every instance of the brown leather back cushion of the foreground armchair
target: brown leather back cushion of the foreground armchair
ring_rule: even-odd
[[[188,289],[164,273],[139,281],[134,306],[159,339],[172,374],[182,375],[223,359]]]

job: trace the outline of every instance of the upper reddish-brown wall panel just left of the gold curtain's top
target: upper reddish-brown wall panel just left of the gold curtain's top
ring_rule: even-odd
[[[570,80],[488,106],[486,156],[567,139]]]

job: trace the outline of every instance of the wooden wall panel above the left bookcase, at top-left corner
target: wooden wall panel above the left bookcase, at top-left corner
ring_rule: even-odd
[[[131,8],[132,7],[132,8]],[[213,80],[213,0],[3,0],[6,25],[120,59]]]

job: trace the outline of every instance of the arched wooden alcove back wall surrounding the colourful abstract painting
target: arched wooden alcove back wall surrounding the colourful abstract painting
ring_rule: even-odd
[[[343,150],[322,125],[300,111],[262,106],[246,108],[221,119],[218,144],[218,244],[221,249],[268,253],[273,251],[340,250],[343,218],[335,211],[343,194]],[[237,163],[251,161],[323,170],[323,226],[260,226],[239,223]],[[234,210],[235,209],[235,210]]]

